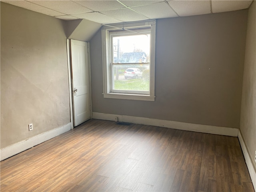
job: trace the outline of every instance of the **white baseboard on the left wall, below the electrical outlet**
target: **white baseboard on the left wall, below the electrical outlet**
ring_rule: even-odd
[[[42,134],[39,134],[39,135],[36,135],[32,138],[29,138],[29,139],[26,139],[26,140],[23,140],[23,141],[20,141],[18,143],[15,143],[15,144],[12,144],[10,146],[7,146],[5,148],[2,148],[1,151],[0,151],[0,154],[1,154],[1,158],[0,160],[4,160],[6,158],[9,158],[11,156],[14,156],[22,151],[25,151],[29,148],[32,148],[42,142],[45,142],[47,140],[50,140],[64,132],[67,132],[71,129],[71,122],[64,125],[64,126],[61,126],[61,127],[58,127],[58,128],[55,128],[53,130],[50,130],[50,131],[47,131],[47,132],[44,132]]]

